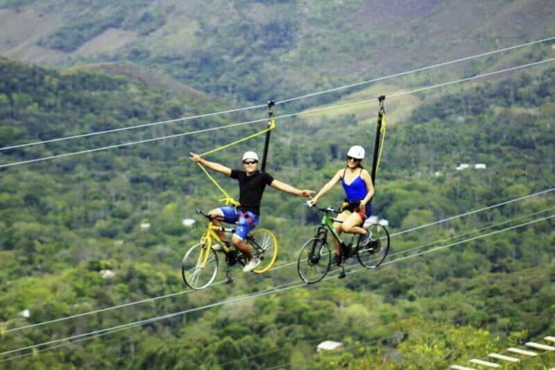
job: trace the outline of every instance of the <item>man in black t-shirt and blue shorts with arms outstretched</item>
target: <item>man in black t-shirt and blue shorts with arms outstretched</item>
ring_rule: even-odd
[[[244,242],[244,239],[250,230],[258,225],[260,201],[262,200],[262,194],[264,193],[266,185],[270,185],[271,187],[281,190],[282,192],[300,196],[308,197],[311,194],[314,194],[314,192],[311,190],[299,190],[296,187],[275,180],[266,172],[262,173],[258,171],[258,155],[254,151],[247,151],[244,153],[243,171],[239,169],[230,169],[216,162],[210,162],[200,158],[200,156],[195,153],[189,154],[191,155],[191,158],[189,159],[193,162],[200,163],[200,165],[212,169],[212,171],[220,172],[225,176],[229,176],[230,178],[234,178],[239,181],[239,205],[237,207],[229,206],[215,208],[214,210],[210,210],[208,214],[213,217],[221,217],[225,222],[232,223],[238,221],[237,228],[235,228],[235,232],[231,238],[231,243],[248,258],[248,262],[243,271],[252,271],[260,264],[260,260],[255,258],[253,253],[250,251],[249,246]],[[219,219],[214,219],[214,225],[220,226]],[[225,234],[223,231],[219,231],[218,236],[222,242],[229,245],[229,243],[225,240]],[[217,244],[216,248],[219,248]]]

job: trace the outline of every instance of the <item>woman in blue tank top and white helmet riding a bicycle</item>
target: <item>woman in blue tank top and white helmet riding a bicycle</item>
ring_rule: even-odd
[[[359,246],[365,246],[368,243],[368,233],[361,226],[364,220],[372,215],[372,204],[370,199],[374,195],[374,186],[372,178],[368,171],[362,167],[364,159],[364,148],[359,145],[351,146],[347,153],[347,167],[336,172],[335,176],[307,203],[314,205],[324,194],[332,190],[332,187],[341,180],[341,185],[345,190],[345,203],[343,203],[343,212],[338,215],[337,219],[343,223],[334,223],[337,233],[344,231],[345,233],[361,234],[359,237]],[[340,253],[341,247],[337,239],[334,239],[335,257],[332,264],[341,263]]]

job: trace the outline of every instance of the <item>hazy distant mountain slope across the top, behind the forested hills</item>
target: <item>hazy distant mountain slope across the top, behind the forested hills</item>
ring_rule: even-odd
[[[260,102],[550,37],[554,16],[549,0],[4,0],[0,53],[62,66],[133,62]],[[416,78],[469,76],[546,53],[529,47]]]

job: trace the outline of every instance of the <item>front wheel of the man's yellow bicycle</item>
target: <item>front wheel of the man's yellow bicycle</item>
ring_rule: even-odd
[[[206,254],[208,253],[208,255]],[[218,255],[207,249],[206,244],[191,246],[181,264],[183,281],[192,289],[204,289],[212,284],[218,274]]]

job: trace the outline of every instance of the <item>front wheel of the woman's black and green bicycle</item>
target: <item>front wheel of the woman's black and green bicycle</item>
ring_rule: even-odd
[[[305,283],[314,284],[322,280],[327,271],[330,271],[331,263],[330,246],[325,240],[313,237],[300,247],[297,271]]]

